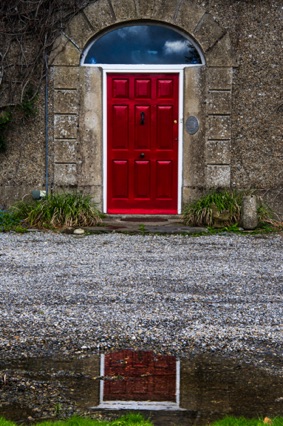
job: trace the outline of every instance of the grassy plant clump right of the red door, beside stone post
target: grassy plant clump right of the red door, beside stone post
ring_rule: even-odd
[[[229,227],[240,222],[242,194],[216,190],[185,206],[183,220],[189,226]]]

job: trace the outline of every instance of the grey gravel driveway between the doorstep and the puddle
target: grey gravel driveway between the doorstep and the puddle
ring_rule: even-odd
[[[280,234],[2,233],[0,243],[0,359],[131,347],[280,366]]]

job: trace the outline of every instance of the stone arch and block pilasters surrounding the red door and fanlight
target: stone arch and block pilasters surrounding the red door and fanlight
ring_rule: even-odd
[[[230,186],[231,94],[234,57],[229,33],[193,0],[97,0],[78,13],[57,39],[54,77],[54,185],[75,186],[102,206],[102,71],[80,67],[85,46],[103,29],[141,20],[170,24],[201,47],[206,65],[184,71],[184,121],[197,116],[189,135],[184,123],[182,200],[208,187]]]

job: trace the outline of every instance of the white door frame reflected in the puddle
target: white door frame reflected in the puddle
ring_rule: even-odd
[[[98,407],[95,408],[105,408],[108,410],[170,410],[177,411],[182,410],[180,408],[180,366],[181,363],[179,360],[176,360],[176,402],[171,401],[162,401],[162,402],[153,402],[153,401],[104,401],[104,380],[100,380],[100,399]],[[105,355],[100,355],[100,377],[104,377],[105,374]]]

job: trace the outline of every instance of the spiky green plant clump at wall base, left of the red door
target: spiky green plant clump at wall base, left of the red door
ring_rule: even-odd
[[[21,201],[12,207],[24,224],[36,228],[95,226],[100,212],[91,197],[79,192],[51,194],[38,201]]]

